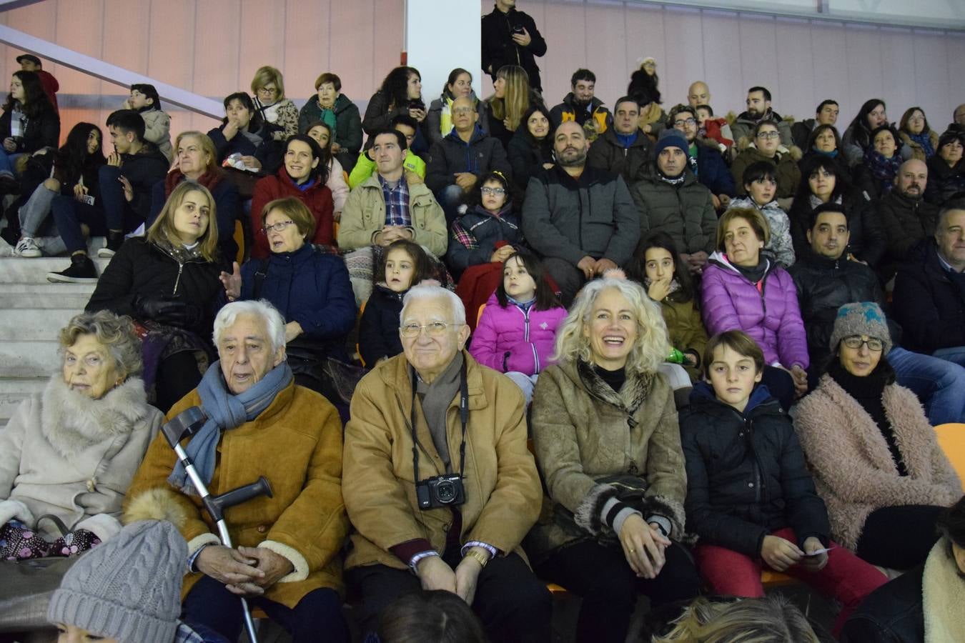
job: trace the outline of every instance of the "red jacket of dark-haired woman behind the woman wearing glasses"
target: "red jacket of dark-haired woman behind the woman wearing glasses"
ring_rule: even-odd
[[[294,197],[312,211],[312,216],[315,217],[315,236],[309,240],[310,243],[336,245],[332,230],[332,191],[324,183],[319,183],[318,179],[314,180],[312,187],[305,191],[299,190],[283,165],[276,176],[265,176],[255,183],[255,192],[251,197],[251,229],[255,235],[255,247],[251,251],[253,257],[261,259],[270,254],[268,237],[262,232],[262,209],[270,201],[286,197]]]

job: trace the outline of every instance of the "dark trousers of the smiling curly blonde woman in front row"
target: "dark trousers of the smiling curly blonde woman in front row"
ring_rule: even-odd
[[[690,551],[674,543],[665,555],[667,562],[656,578],[638,578],[620,549],[587,541],[556,552],[537,572],[583,597],[576,621],[577,643],[623,643],[637,592],[659,606],[692,599],[700,590],[701,579]]]

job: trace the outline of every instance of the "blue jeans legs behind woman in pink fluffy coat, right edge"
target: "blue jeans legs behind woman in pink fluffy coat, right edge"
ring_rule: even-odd
[[[965,421],[965,368],[940,359],[937,351],[932,357],[900,346],[888,353],[888,363],[895,369],[897,383],[922,400],[932,425]]]

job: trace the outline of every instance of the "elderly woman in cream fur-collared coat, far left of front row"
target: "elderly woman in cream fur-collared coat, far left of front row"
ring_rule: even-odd
[[[69,556],[121,530],[121,503],[161,425],[129,317],[74,316],[61,368],[0,431],[0,558]]]

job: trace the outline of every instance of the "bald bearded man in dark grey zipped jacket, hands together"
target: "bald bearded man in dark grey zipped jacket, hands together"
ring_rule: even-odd
[[[567,121],[553,137],[557,165],[530,179],[523,234],[563,292],[625,264],[640,239],[640,215],[622,177],[587,166],[583,127]]]

